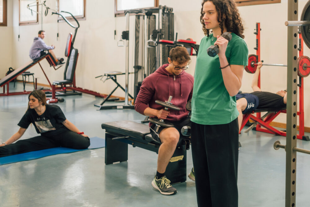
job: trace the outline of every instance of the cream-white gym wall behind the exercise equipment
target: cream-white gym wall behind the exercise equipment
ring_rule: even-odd
[[[48,4],[55,7],[56,0],[49,0]],[[12,2],[12,3],[11,3]],[[299,14],[307,1],[299,1]],[[175,13],[175,32],[178,39],[192,38],[200,43],[204,36],[200,23],[201,0],[160,0],[160,5],[172,7]],[[11,7],[11,11],[10,8]],[[249,54],[256,54],[255,39],[253,34],[255,23],[261,23],[261,59],[265,63],[286,64],[287,54],[287,28],[284,22],[287,20],[287,0],[281,3],[264,4],[255,6],[238,7],[244,21],[245,41],[248,44]],[[33,37],[41,29],[41,21],[37,25],[18,26],[18,0],[8,1],[8,26],[0,27],[0,44],[7,52],[0,51],[0,75],[4,76],[7,68],[12,65],[17,68],[29,61],[29,48]],[[299,15],[300,16],[300,15]],[[41,19],[41,18],[39,18]],[[72,22],[74,23],[74,22]],[[102,83],[95,76],[107,71],[125,72],[125,47],[117,47],[122,31],[125,30],[125,17],[114,17],[114,1],[86,0],[86,20],[79,21],[81,27],[78,29],[74,47],[79,51],[78,65],[76,70],[76,82],[78,87],[108,94],[115,84],[108,80]],[[130,56],[129,66],[132,70],[133,61],[133,28],[134,16],[130,18]],[[48,45],[56,45],[55,53],[58,57],[64,57],[66,39],[69,32],[74,32],[72,27],[65,22],[57,23],[57,16],[48,14],[43,16],[43,29],[46,31],[44,39]],[[114,30],[117,37],[114,40]],[[59,32],[57,41],[56,34]],[[20,34],[20,41],[17,36]],[[2,38],[3,37],[3,38]],[[10,44],[11,42],[11,44]],[[309,49],[304,45],[304,55],[310,56]],[[192,57],[192,63],[187,70],[193,74],[196,57]],[[4,66],[2,64],[5,64]],[[63,68],[55,71],[49,67],[46,61],[42,66],[48,78],[53,80],[63,79]],[[38,65],[30,69],[38,77],[39,83],[47,84],[47,81]],[[241,90],[251,92],[250,83],[253,74],[244,72]],[[308,77],[304,79],[305,91],[310,89]],[[125,77],[119,76],[117,80],[124,86]],[[129,85],[133,83],[133,77],[129,78]],[[286,89],[286,67],[263,66],[261,70],[261,88],[263,91],[277,92]],[[132,87],[129,92],[133,95]],[[118,89],[113,95],[124,96],[124,92]],[[310,126],[310,100],[305,96],[305,125]],[[275,121],[286,122],[285,115],[281,115]]]

